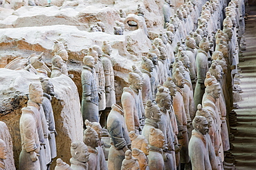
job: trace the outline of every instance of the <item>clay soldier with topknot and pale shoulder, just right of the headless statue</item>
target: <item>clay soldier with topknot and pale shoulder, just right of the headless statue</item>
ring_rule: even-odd
[[[147,105],[145,108],[145,126],[143,127],[142,135],[145,136],[147,141],[149,141],[149,129],[154,127],[158,129],[158,123],[161,120],[161,111],[158,105],[152,103],[151,100],[147,100]]]

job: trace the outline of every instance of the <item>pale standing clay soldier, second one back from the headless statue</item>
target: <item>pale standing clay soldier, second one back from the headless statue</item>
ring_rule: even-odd
[[[143,72],[143,105],[146,106],[147,100],[152,100],[152,87],[151,87],[151,72],[154,70],[153,62],[146,57],[143,57],[143,62],[141,63],[141,72]]]

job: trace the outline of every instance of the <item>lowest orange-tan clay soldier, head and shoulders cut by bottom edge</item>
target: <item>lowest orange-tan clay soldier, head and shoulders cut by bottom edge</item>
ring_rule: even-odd
[[[140,149],[134,148],[132,149],[132,156],[138,160],[138,164],[140,164],[140,170],[148,170],[148,159],[143,151]]]

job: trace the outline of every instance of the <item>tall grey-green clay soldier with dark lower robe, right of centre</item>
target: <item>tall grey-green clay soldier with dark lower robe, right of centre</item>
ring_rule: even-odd
[[[205,90],[204,80],[205,74],[208,72],[208,52],[210,43],[206,38],[199,44],[199,50],[196,55],[197,82],[194,89],[194,105],[202,103],[202,98]]]

